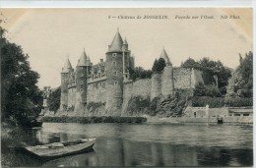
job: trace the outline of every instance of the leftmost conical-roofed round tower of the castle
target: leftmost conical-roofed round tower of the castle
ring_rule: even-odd
[[[65,110],[68,106],[68,84],[69,84],[69,77],[73,71],[74,70],[70,64],[69,58],[67,58],[65,65],[61,71],[60,110]]]

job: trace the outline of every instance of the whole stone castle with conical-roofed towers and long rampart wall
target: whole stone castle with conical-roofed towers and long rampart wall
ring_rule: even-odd
[[[126,39],[117,30],[111,45],[105,53],[105,61],[96,65],[84,51],[78,60],[76,70],[69,59],[61,71],[60,110],[83,111],[89,102],[105,103],[105,110],[119,115],[128,100],[135,95],[150,97],[167,96],[174,89],[191,89],[195,84],[204,83],[202,73],[194,69],[173,68],[164,49],[160,58],[166,66],[162,73],[153,74],[152,79],[130,80],[130,69],[134,69]]]

